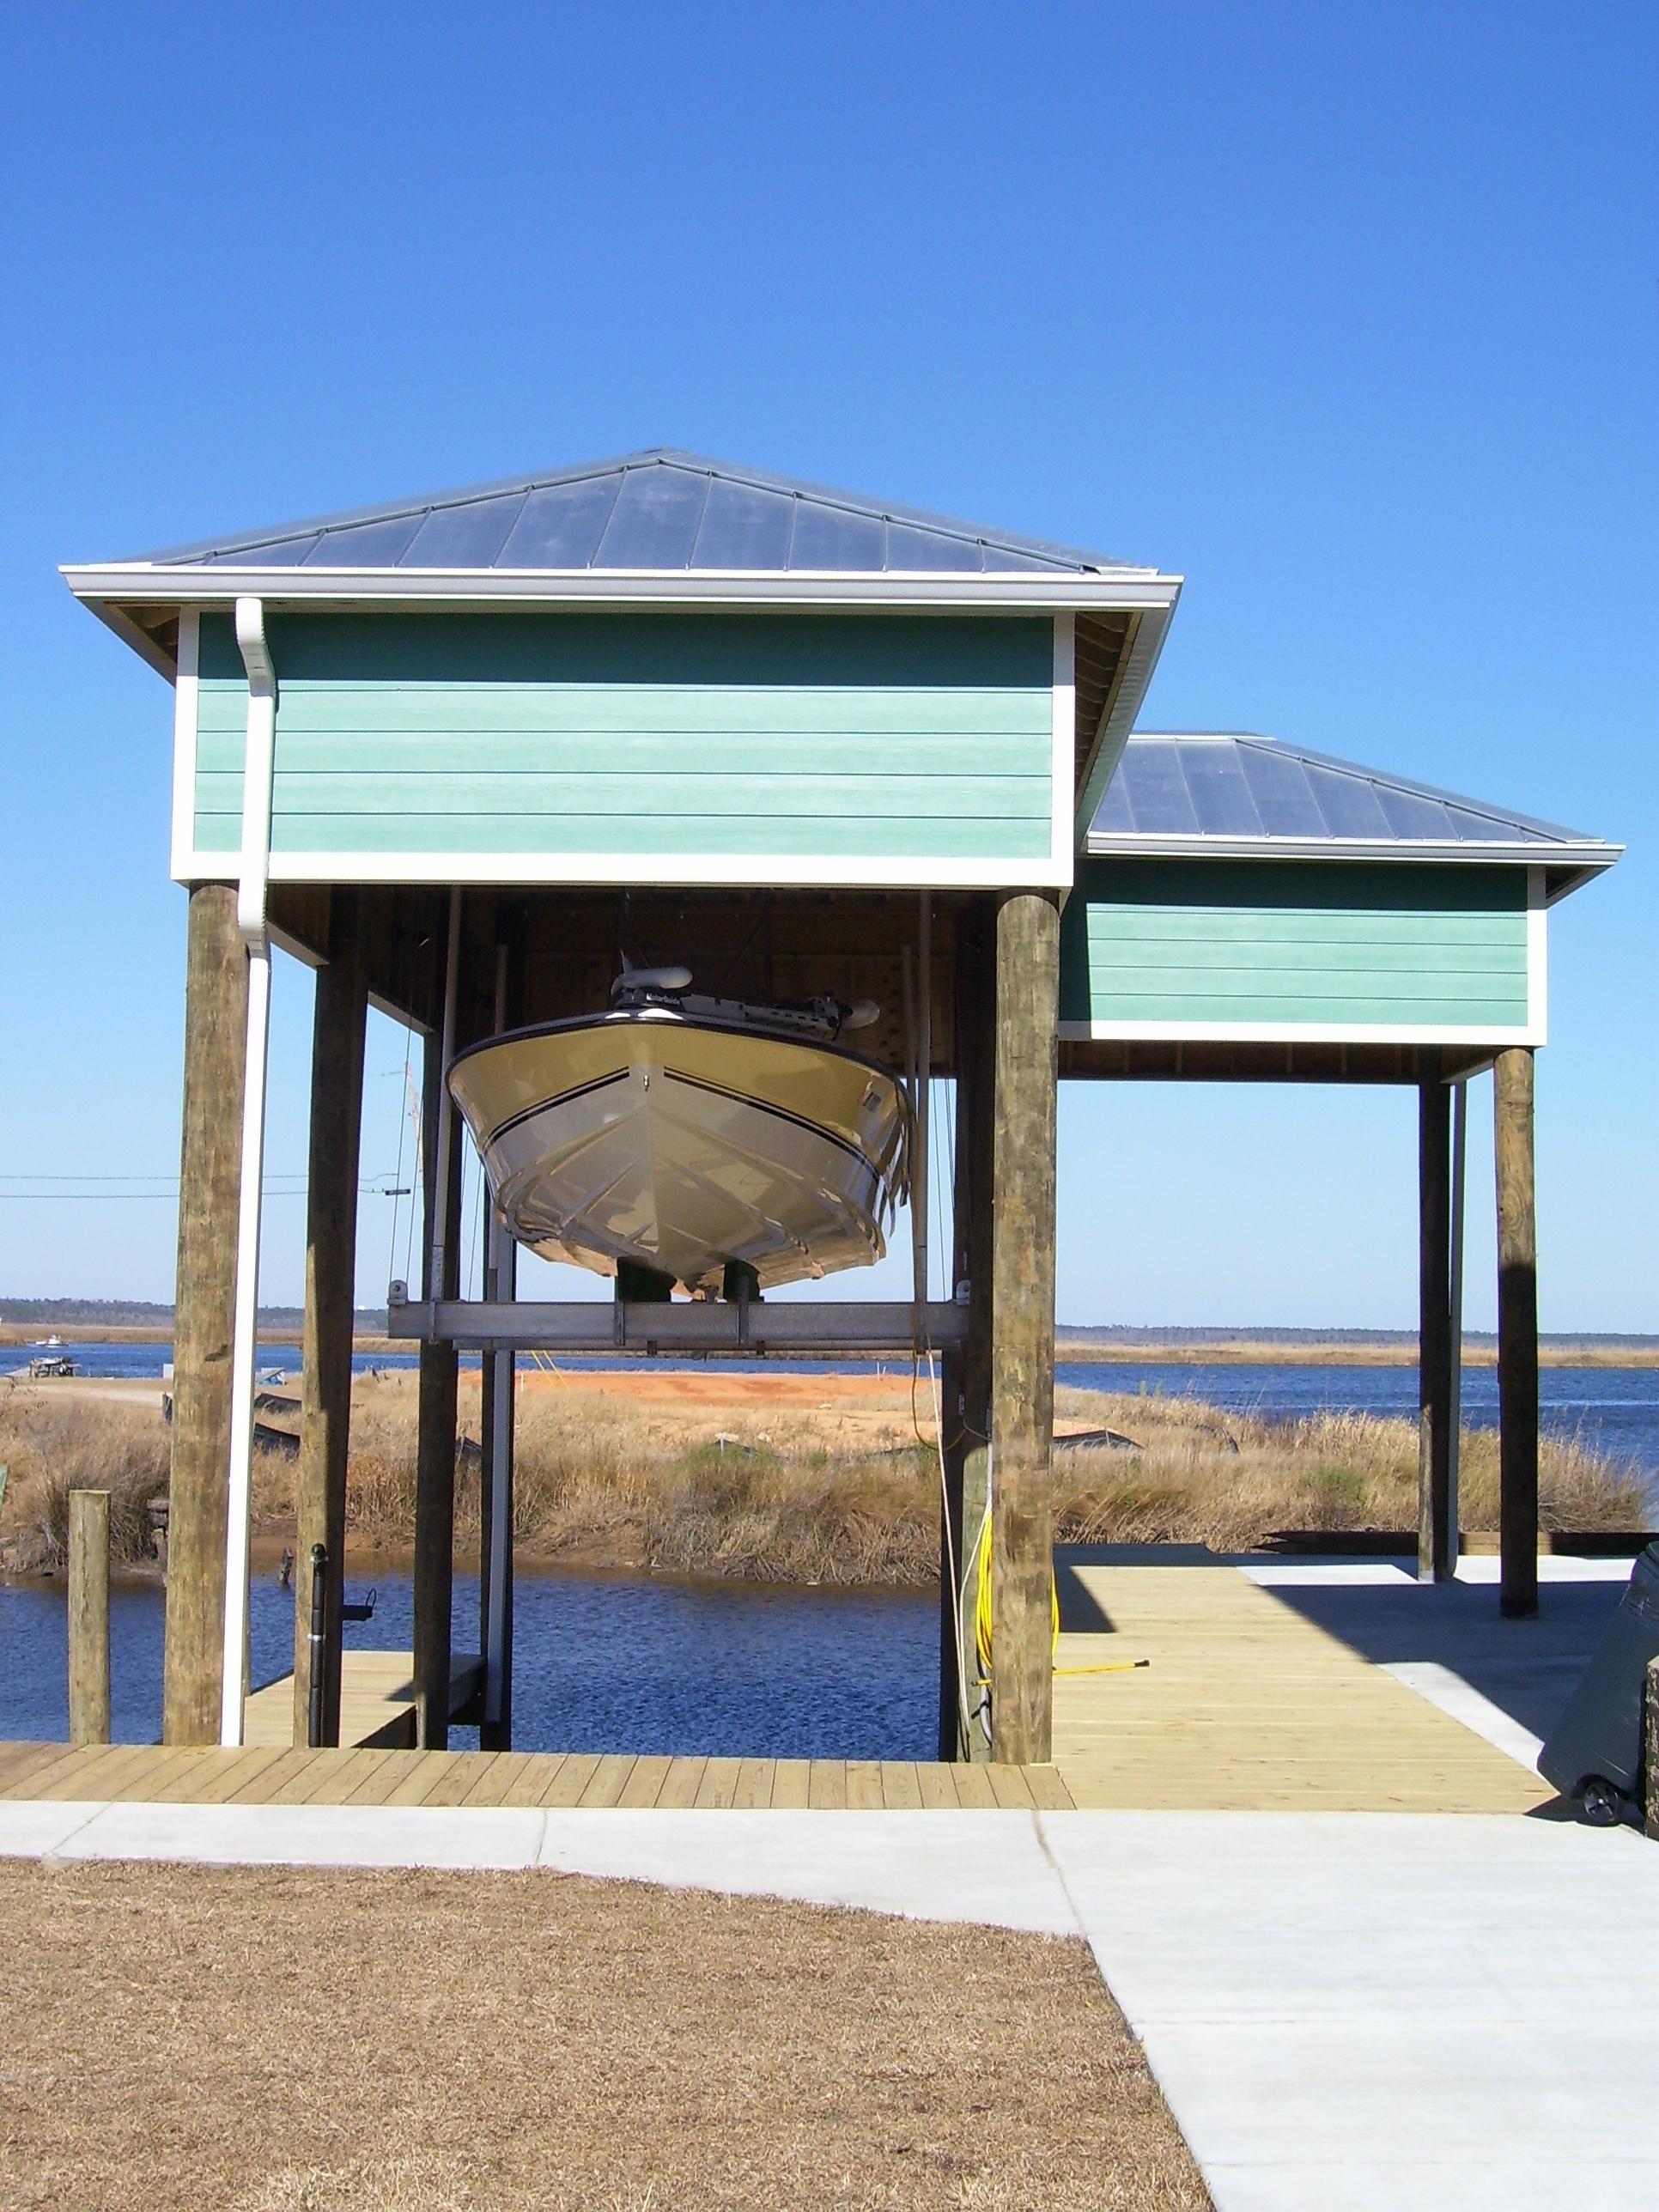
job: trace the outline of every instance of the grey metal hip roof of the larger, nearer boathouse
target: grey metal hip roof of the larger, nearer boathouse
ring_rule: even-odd
[[[142,553],[137,562],[168,568],[1157,573],[670,447],[208,538]]]

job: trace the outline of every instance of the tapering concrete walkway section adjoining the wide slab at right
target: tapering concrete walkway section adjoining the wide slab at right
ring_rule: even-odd
[[[544,1867],[1075,1936],[1029,1812],[549,1812]]]

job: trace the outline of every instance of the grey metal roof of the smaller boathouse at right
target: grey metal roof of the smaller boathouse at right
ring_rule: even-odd
[[[1524,847],[1610,865],[1621,847],[1270,737],[1137,732],[1088,830],[1091,852],[1203,845]]]

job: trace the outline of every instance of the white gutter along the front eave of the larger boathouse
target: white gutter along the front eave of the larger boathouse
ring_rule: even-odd
[[[146,564],[64,566],[77,599],[104,619],[119,602],[142,606],[230,606],[263,599],[279,613],[301,606],[902,606],[1064,613],[1168,611],[1179,577],[1155,568],[1104,568],[1091,575],[1057,571],[927,568],[745,571],[745,568],[237,568],[230,562],[190,568]],[[119,619],[117,619],[119,626]],[[131,628],[131,626],[128,626]],[[124,630],[126,635],[126,630]]]

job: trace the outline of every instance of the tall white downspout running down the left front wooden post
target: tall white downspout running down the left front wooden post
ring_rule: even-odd
[[[237,1318],[230,1340],[230,1478],[226,1495],[226,1644],[219,1741],[241,1743],[248,1690],[248,1537],[252,1526],[254,1356],[259,1334],[259,1210],[265,1181],[265,1066],[270,1057],[270,776],[276,754],[276,670],[265,608],[237,599],[237,646],[248,670],[248,748],[241,772],[241,883],[237,927],[248,947],[248,1051],[241,1093],[237,1208]]]

